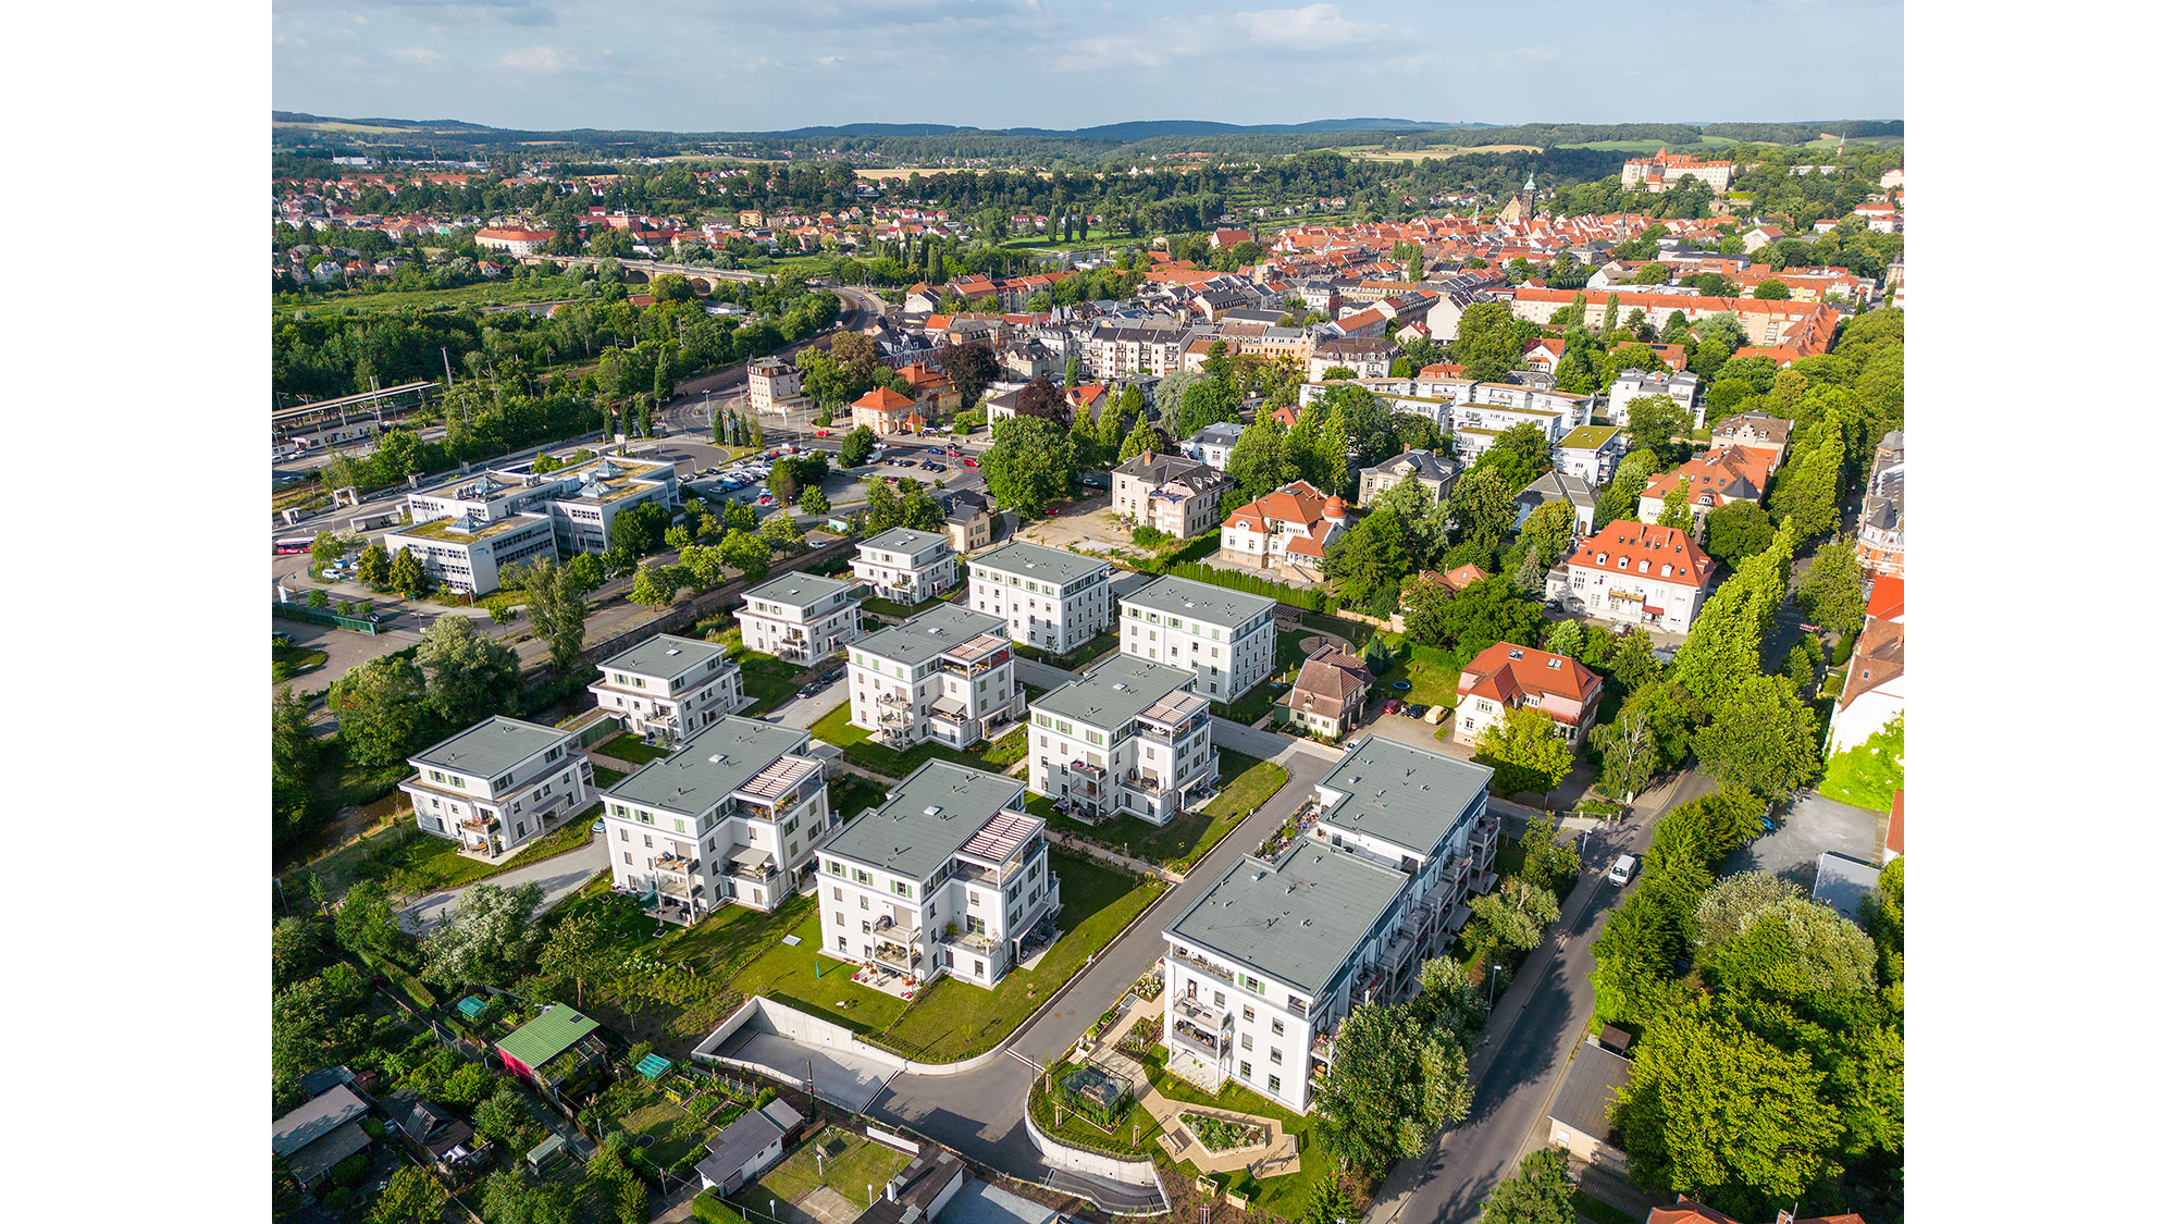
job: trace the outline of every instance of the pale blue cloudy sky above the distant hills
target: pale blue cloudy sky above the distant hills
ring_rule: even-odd
[[[1904,113],[1897,2],[1262,2],[274,0],[272,107],[540,131]]]

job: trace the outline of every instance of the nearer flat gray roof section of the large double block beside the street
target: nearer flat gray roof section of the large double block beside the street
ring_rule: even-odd
[[[1164,934],[1319,995],[1404,889],[1404,871],[1299,841],[1275,867],[1242,856]]]

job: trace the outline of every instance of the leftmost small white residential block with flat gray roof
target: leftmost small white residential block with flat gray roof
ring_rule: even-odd
[[[400,791],[416,828],[500,858],[559,828],[594,801],[590,758],[572,732],[490,717],[409,758]]]

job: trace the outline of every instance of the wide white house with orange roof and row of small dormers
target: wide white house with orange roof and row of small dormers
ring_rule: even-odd
[[[1676,527],[1619,518],[1549,571],[1567,612],[1684,634],[1708,601],[1715,560]]]

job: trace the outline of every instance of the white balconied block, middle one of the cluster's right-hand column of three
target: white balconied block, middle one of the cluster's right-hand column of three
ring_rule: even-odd
[[[1112,656],[1029,706],[1027,788],[1075,819],[1169,823],[1216,784],[1195,673]]]

